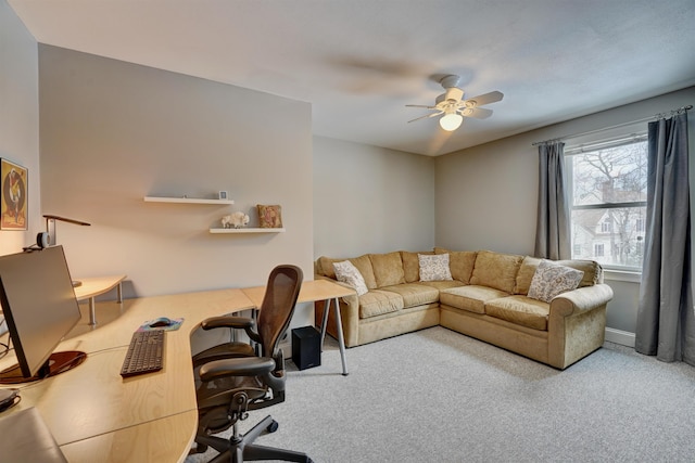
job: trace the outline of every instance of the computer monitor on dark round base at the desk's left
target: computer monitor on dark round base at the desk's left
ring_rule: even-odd
[[[87,357],[53,352],[81,317],[63,246],[0,256],[0,303],[17,358],[0,384],[53,376]]]

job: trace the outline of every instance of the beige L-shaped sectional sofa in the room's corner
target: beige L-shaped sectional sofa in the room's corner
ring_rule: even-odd
[[[451,280],[420,281],[419,255],[446,255]],[[549,303],[529,297],[542,260],[530,256],[434,248],[320,257],[315,278],[336,280],[333,262],[344,260],[359,271],[368,290],[340,300],[348,347],[442,325],[563,370],[604,343],[612,291],[603,283],[601,266],[591,260],[553,262],[583,274],[574,272],[579,286]],[[538,287],[536,281],[534,296]],[[316,320],[321,316],[323,306],[317,306]],[[334,321],[328,326],[331,333]]]

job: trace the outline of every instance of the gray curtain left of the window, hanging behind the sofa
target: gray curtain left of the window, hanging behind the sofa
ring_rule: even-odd
[[[564,149],[563,142],[539,145],[539,209],[533,254],[554,260],[571,257]]]

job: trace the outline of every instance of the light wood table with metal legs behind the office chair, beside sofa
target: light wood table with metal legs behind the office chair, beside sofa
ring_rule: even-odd
[[[261,308],[263,296],[265,295],[265,286],[244,287],[243,293],[253,301],[253,305]],[[321,346],[326,337],[326,324],[328,323],[328,312],[330,311],[331,300],[333,301],[336,314],[336,330],[338,331],[338,347],[340,348],[340,360],[343,365],[343,375],[348,375],[348,363],[345,361],[345,340],[343,338],[343,325],[340,318],[340,305],[338,298],[354,294],[355,291],[341,286],[328,280],[313,280],[302,282],[298,303],[314,303],[317,300],[326,301],[324,310],[324,319],[321,321]]]

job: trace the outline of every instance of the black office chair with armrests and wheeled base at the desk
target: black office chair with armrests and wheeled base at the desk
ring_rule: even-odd
[[[197,448],[192,452],[214,448],[219,454],[211,460],[212,463],[240,463],[244,460],[312,461],[305,453],[253,443],[263,432],[277,430],[278,423],[270,415],[243,435],[238,429],[239,421],[249,416],[249,410],[285,401],[285,359],[279,344],[294,313],[302,278],[302,269],[295,266],[273,269],[261,306],[257,330],[253,319],[243,317],[215,317],[203,322],[203,327],[208,330],[222,326],[242,329],[262,348],[261,356],[256,356],[249,344],[226,343],[216,353],[213,348],[208,349],[207,356],[197,356],[200,366],[198,432]],[[229,439],[213,436],[229,427],[233,428]]]

